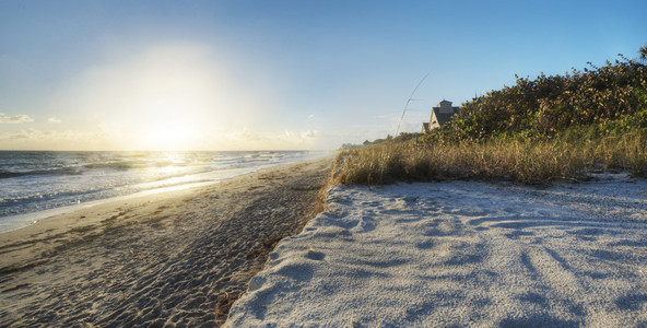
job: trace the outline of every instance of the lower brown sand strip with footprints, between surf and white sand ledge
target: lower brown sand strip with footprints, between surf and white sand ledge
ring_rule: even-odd
[[[324,209],[330,157],[96,204],[0,234],[0,326],[215,326]]]

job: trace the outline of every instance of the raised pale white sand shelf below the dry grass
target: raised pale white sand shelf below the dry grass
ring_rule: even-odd
[[[647,326],[647,181],[334,187],[227,327]]]

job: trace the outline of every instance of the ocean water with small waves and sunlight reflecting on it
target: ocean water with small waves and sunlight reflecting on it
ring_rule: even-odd
[[[215,184],[327,152],[0,151],[0,232],[117,197]]]

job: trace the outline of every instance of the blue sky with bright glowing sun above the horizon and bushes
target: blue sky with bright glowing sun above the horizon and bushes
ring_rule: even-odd
[[[0,0],[0,150],[332,150],[636,58],[647,1]],[[421,79],[428,73],[409,97]]]

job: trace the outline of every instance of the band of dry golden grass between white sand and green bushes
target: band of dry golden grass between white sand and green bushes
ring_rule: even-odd
[[[497,179],[537,184],[580,178],[591,169],[647,173],[647,140],[630,132],[597,140],[381,143],[342,151],[336,178],[342,184],[380,185],[396,180]]]

